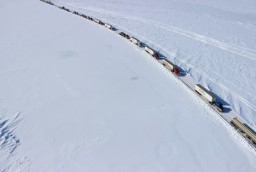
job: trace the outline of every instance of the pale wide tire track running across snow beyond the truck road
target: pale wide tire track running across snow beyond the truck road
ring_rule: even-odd
[[[67,5],[76,7],[78,9],[85,9],[85,10],[93,11],[93,12],[100,13],[100,14],[108,14],[108,15],[112,16],[113,18],[122,18],[122,19],[126,19],[126,20],[137,20],[137,21],[146,23],[148,25],[158,26],[167,31],[175,32],[177,34],[183,35],[184,37],[189,37],[196,41],[200,41],[201,43],[207,43],[209,45],[217,47],[218,49],[223,49],[225,51],[229,51],[230,53],[238,54],[242,57],[246,57],[251,60],[256,60],[256,54],[253,53],[253,52],[255,52],[255,50],[253,50],[253,49],[247,49],[247,48],[240,47],[237,45],[230,45],[228,43],[224,43],[217,39],[214,39],[212,37],[207,37],[207,36],[195,33],[195,32],[189,32],[184,29],[178,28],[176,26],[167,26],[167,25],[164,25],[155,20],[148,20],[143,17],[137,17],[137,16],[128,15],[128,14],[127,15],[119,14],[116,12],[108,11],[106,9],[92,8],[89,6],[84,6],[79,3],[67,3]]]

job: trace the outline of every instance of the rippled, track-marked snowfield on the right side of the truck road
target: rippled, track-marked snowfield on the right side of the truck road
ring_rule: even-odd
[[[195,78],[256,129],[253,0],[53,0],[113,23]]]

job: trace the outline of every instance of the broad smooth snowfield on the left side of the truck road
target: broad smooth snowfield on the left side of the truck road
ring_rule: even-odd
[[[0,171],[255,171],[229,124],[114,32],[36,0],[1,1],[0,20]]]

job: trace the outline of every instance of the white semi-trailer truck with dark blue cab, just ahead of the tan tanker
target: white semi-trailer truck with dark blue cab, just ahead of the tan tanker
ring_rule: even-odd
[[[223,105],[221,102],[216,101],[215,95],[211,91],[205,89],[201,84],[195,85],[195,92],[199,95],[203,95],[212,106],[216,106],[218,112],[223,112]]]

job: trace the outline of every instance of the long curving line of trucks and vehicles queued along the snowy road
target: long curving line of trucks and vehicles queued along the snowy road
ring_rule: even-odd
[[[40,0],[40,1],[42,1],[44,3],[49,3],[50,5],[55,5],[54,3],[51,3],[50,1],[45,1],[45,0]],[[67,12],[70,12],[70,10],[65,8],[64,6],[57,6],[57,5],[55,5],[55,6],[58,7],[59,9],[63,9],[63,10],[66,10]],[[104,23],[104,22],[102,22],[102,20],[93,19],[90,16],[87,16],[85,14],[79,14],[76,11],[73,11],[73,14],[77,14],[81,17],[84,17],[85,19],[94,21],[101,26],[105,26],[109,30],[112,30],[112,31],[116,30],[112,25],[110,25],[108,23]],[[144,47],[144,50],[148,54],[150,54],[152,57],[154,57],[155,60],[158,60],[170,72],[174,73],[175,76],[177,76],[177,78],[178,78],[178,76],[180,76],[179,67],[177,65],[175,65],[174,63],[172,63],[170,60],[167,60],[165,57],[162,57],[160,59],[160,54],[157,51],[148,47],[148,45],[143,46],[143,43],[136,37],[130,37],[128,34],[125,34],[124,32],[119,32],[119,35],[130,40],[131,43],[135,43],[137,45],[137,47],[139,47],[139,48]],[[181,79],[179,79],[179,80],[181,80]],[[182,81],[182,82],[185,83],[184,81]],[[211,91],[209,91],[208,89],[201,86],[201,84],[195,84],[194,91],[199,96],[202,96],[203,97],[203,98],[201,97],[202,99],[207,100],[207,102],[209,103],[210,106],[212,106],[213,109],[218,110],[218,112],[224,112],[223,104],[217,99],[217,96],[214,95]],[[241,133],[241,135],[243,135],[252,146],[256,147],[256,134],[253,131],[253,129],[249,128],[246,123],[241,123],[241,121],[238,118],[232,118],[232,120],[230,121],[230,124],[235,129],[237,129],[237,131],[239,131]]]

